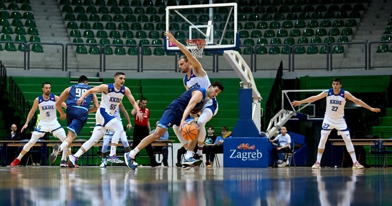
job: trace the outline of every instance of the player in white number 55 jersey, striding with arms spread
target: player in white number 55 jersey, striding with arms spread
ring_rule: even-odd
[[[125,74],[122,72],[116,72],[114,74],[114,84],[102,84],[93,89],[87,90],[77,100],[77,105],[81,105],[84,102],[84,98],[89,94],[102,92],[101,102],[99,109],[95,113],[96,125],[93,130],[93,134],[90,139],[87,140],[81,148],[75,153],[75,155],[68,155],[68,159],[71,163],[71,167],[75,167],[78,158],[86,153],[92,146],[95,145],[107,132],[107,130],[114,131],[112,138],[112,145],[110,148],[110,154],[108,161],[114,163],[121,163],[116,155],[117,143],[120,139],[122,132],[124,131],[122,124],[113,116],[117,106],[120,104],[122,97],[125,95],[128,97],[133,108],[136,110],[136,118],[142,119],[139,107],[135,101],[135,98],[131,94],[131,90],[124,86]]]

